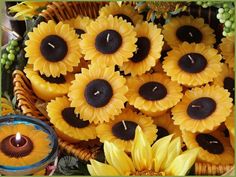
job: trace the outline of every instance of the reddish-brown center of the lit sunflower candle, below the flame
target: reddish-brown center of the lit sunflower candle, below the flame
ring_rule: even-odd
[[[33,142],[22,135],[20,140],[16,140],[16,135],[10,135],[0,143],[0,150],[9,157],[21,158],[29,155],[33,150]]]

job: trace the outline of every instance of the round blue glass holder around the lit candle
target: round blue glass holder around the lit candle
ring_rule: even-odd
[[[32,165],[27,166],[3,166],[0,165],[0,174],[2,175],[31,175],[40,170],[45,169],[50,163],[52,163],[58,155],[58,140],[54,130],[44,123],[43,121],[31,118],[23,115],[8,115],[0,117],[0,128],[5,125],[33,125],[35,129],[43,131],[48,134],[48,139],[50,140],[51,152],[41,161],[36,162]],[[40,142],[39,142],[40,143]]]

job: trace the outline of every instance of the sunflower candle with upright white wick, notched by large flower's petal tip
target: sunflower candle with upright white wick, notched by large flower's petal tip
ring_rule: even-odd
[[[131,109],[124,109],[114,120],[99,124],[96,131],[101,142],[113,142],[122,150],[130,152],[137,126],[142,128],[147,141],[152,144],[157,137],[157,129],[152,118]]]

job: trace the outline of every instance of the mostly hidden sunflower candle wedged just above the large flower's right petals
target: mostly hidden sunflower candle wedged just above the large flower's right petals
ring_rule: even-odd
[[[157,140],[170,134],[174,134],[175,138],[182,136],[179,126],[174,125],[174,121],[171,119],[170,113],[154,117],[153,121],[158,130]]]

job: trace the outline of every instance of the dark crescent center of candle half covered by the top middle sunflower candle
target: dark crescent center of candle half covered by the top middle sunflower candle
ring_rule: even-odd
[[[146,37],[139,37],[137,41],[137,51],[134,52],[134,55],[132,58],[130,58],[131,61],[138,63],[140,61],[143,61],[150,51],[150,40]]]

